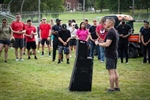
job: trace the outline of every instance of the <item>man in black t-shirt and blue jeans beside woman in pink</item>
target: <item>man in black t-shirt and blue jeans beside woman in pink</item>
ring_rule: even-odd
[[[89,32],[90,32],[90,54],[89,56],[94,58],[94,48],[96,47],[95,41],[97,40],[98,36],[96,35],[96,26],[97,26],[97,21],[93,20],[93,25],[90,27]],[[99,50],[97,46],[97,50]]]

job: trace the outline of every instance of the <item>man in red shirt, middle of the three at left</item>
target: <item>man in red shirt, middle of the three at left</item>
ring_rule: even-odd
[[[36,57],[36,42],[35,42],[35,35],[36,35],[36,28],[32,26],[32,21],[27,20],[27,26],[26,29],[26,42],[27,42],[27,50],[28,50],[28,59],[30,59],[30,49],[32,48],[34,59],[37,59]]]

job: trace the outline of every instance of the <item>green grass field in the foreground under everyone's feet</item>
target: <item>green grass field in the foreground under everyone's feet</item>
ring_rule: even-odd
[[[96,57],[93,66],[91,92],[70,92],[68,86],[74,65],[74,57],[67,65],[47,56],[38,60],[27,59],[16,62],[14,49],[9,50],[8,63],[0,57],[0,100],[149,100],[150,66],[142,65],[142,58],[129,59],[128,65],[118,63],[121,92],[107,93],[109,88],[108,72],[105,63]],[[120,60],[119,60],[120,61]]]

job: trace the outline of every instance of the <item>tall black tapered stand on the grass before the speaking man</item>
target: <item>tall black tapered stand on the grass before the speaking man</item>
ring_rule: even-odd
[[[76,59],[72,71],[69,90],[91,91],[93,59],[88,58],[88,45],[86,41],[77,41]]]

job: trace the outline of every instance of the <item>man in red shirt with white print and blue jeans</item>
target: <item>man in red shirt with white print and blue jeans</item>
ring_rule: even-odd
[[[105,18],[102,18],[100,21],[100,24],[96,27],[96,33],[97,33],[97,36],[98,36],[100,42],[104,42],[104,39],[107,34],[107,31],[104,28],[104,23],[105,23]],[[99,51],[100,51],[99,58],[100,58],[101,62],[104,62],[104,59],[105,59],[104,47],[99,46]]]

